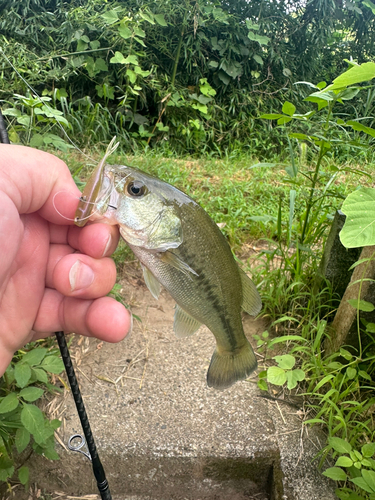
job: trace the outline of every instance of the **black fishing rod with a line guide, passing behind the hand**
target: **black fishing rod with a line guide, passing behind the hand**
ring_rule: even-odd
[[[10,144],[8,132],[6,129],[4,117],[1,113],[1,110],[0,110],[0,142],[3,144]],[[102,500],[112,500],[111,492],[109,490],[109,484],[95,445],[94,436],[91,431],[90,422],[86,413],[85,405],[83,403],[82,394],[73,368],[73,363],[70,357],[64,332],[62,331],[55,332],[55,336],[57,339],[57,343],[59,345],[61,358],[65,366],[65,371],[68,376],[70,388],[77,408],[77,413],[81,421],[81,426],[84,433],[84,436],[82,436],[81,434],[74,434],[73,436],[71,436],[68,441],[68,448],[71,451],[82,453],[83,455],[85,455],[85,457],[87,457],[90,460]],[[78,444],[73,443],[73,441],[76,440],[79,440]],[[82,449],[85,445],[88,451],[84,451]]]

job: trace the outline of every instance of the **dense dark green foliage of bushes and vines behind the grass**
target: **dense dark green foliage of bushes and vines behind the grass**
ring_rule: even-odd
[[[133,148],[270,155],[285,140],[259,114],[304,97],[294,82],[368,61],[374,19],[368,0],[0,0],[0,45],[81,145],[116,134]],[[0,68],[6,107],[27,89],[1,53]],[[27,125],[46,118],[39,110]],[[26,142],[25,117],[10,121]]]

